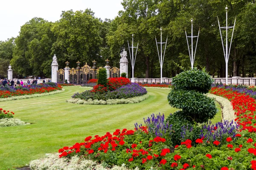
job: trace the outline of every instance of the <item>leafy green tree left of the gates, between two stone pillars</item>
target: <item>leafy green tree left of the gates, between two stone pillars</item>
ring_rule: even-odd
[[[37,17],[21,26],[11,60],[14,71],[23,76],[51,75],[51,48],[55,42],[51,26],[52,23]]]

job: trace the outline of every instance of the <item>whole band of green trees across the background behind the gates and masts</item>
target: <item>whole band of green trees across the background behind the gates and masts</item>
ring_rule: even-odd
[[[62,11],[61,19],[55,23],[32,18],[21,26],[19,36],[0,42],[0,59],[11,62],[15,73],[23,76],[49,77],[54,54],[60,68],[64,68],[66,61],[70,67],[76,67],[78,60],[81,65],[85,62],[91,65],[94,59],[97,67],[105,66],[105,59],[110,59],[111,66],[119,67],[120,52],[123,48],[129,51],[128,42],[131,45],[134,34],[134,44],[139,42],[134,76],[160,77],[155,38],[160,41],[162,28],[163,41],[168,36],[163,77],[174,77],[180,68],[191,67],[185,28],[191,34],[193,18],[193,34],[200,28],[194,67],[224,77],[225,60],[217,16],[221,26],[225,26],[227,6],[228,26],[233,26],[236,17],[229,75],[253,77],[256,73],[255,0],[123,0],[122,6],[123,10],[113,20],[101,20],[90,9]],[[128,52],[128,61],[129,58]],[[128,67],[131,77],[131,62]]]

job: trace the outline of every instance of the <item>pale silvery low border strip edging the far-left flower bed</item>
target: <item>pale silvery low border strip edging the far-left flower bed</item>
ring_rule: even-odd
[[[29,98],[41,97],[41,96],[49,96],[52,94],[61,93],[63,91],[65,91],[64,88],[62,88],[61,90],[50,91],[50,92],[42,93],[42,94],[31,94],[31,95],[24,95],[24,96],[14,96],[14,97],[2,98],[2,99],[0,99],[0,102],[6,102],[6,101],[11,101],[11,100],[20,100],[20,99],[29,99]]]

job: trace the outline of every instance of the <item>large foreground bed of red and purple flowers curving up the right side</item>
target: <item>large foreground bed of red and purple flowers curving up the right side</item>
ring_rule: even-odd
[[[230,100],[237,124],[227,121],[206,124],[199,133],[195,133],[193,126],[183,126],[180,127],[182,142],[174,144],[168,137],[174,133],[174,127],[166,124],[161,115],[151,116],[145,119],[147,126],[136,124],[136,130],[117,129],[113,134],[88,136],[82,143],[61,148],[59,157],[83,155],[109,166],[124,163],[129,168],[140,169],[255,169],[255,99],[224,88],[212,88],[211,93]]]

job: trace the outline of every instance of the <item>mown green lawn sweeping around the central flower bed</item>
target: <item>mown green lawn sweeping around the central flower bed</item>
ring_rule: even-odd
[[[116,128],[133,129],[134,123],[143,123],[143,118],[151,113],[169,115],[176,111],[168,104],[168,89],[148,88],[147,100],[125,105],[66,103],[74,93],[85,89],[78,86],[64,89],[51,96],[0,102],[0,108],[15,112],[15,118],[32,123],[0,127],[1,170],[26,166],[45,153],[83,142],[86,136],[103,135]]]

